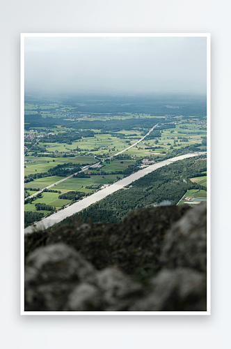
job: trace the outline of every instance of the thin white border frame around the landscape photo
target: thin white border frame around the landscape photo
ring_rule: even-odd
[[[207,38],[207,311],[24,311],[24,38]],[[211,315],[211,34],[209,33],[22,33],[20,46],[20,315]]]

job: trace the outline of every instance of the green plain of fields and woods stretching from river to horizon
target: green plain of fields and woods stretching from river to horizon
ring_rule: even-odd
[[[104,184],[138,171],[143,159],[158,162],[193,151],[205,151],[205,101],[191,97],[187,103],[184,98],[167,102],[161,98],[153,102],[148,96],[120,96],[113,97],[112,103],[110,98],[100,96],[100,103],[97,98],[93,98],[92,103],[85,99],[83,102],[77,96],[54,98],[55,101],[26,97],[24,198],[79,172],[83,166],[88,168],[52,186],[40,197],[27,199],[25,211],[36,212],[35,204],[38,203],[51,205],[54,209],[65,207],[79,199],[58,198],[58,194],[93,193]],[[132,102],[128,103],[130,100]],[[115,156],[140,140],[156,124],[142,142]],[[95,163],[100,167],[94,167]],[[195,186],[206,186],[206,174],[195,172],[193,176],[191,180]],[[164,187],[162,189],[164,191]],[[48,193],[56,193],[56,197],[51,200]],[[137,201],[135,207],[144,205],[139,198],[134,201]],[[40,213],[49,214],[46,209],[40,209]]]

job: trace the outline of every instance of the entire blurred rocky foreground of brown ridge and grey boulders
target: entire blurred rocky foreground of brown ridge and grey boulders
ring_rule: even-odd
[[[202,203],[26,235],[25,311],[206,311],[206,222]]]

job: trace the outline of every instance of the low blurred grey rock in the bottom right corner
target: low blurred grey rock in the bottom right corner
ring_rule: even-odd
[[[206,276],[189,268],[164,269],[148,295],[129,311],[206,311]]]

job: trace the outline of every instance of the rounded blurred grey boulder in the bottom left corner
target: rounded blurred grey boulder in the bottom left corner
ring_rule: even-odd
[[[65,244],[38,248],[26,260],[25,310],[63,310],[75,285],[94,279],[93,265],[73,248]]]

